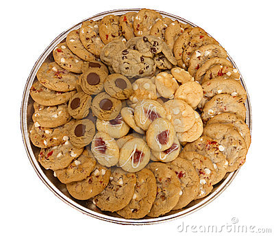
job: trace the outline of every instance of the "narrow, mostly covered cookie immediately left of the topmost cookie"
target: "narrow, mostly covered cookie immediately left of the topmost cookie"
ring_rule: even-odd
[[[119,25],[122,35],[125,37],[126,40],[134,37],[133,22],[136,14],[136,12],[127,12],[126,14],[123,14],[119,19]]]

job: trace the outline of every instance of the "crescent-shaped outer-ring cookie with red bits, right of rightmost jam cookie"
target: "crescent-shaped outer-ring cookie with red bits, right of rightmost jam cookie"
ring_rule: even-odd
[[[202,136],[192,143],[187,143],[183,152],[198,152],[210,158],[216,170],[216,178],[212,180],[212,185],[221,181],[227,173],[228,161],[226,156],[219,150],[219,143],[210,137]]]

